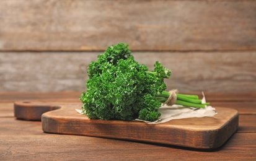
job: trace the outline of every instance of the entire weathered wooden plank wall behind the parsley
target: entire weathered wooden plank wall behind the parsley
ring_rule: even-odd
[[[0,92],[82,92],[118,42],[171,69],[168,89],[256,92],[253,0],[1,0]]]

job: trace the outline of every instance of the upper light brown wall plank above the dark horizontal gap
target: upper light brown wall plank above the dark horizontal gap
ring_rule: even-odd
[[[0,1],[0,50],[255,50],[256,2]]]

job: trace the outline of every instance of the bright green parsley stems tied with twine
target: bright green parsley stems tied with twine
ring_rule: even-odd
[[[175,100],[175,105],[182,105],[184,107],[195,107],[195,108],[205,108],[205,106],[210,105],[210,103],[202,103],[198,95],[185,95],[176,94],[177,98]],[[170,93],[163,91],[161,94],[156,95],[156,99],[161,103],[166,103],[167,99],[170,97]]]

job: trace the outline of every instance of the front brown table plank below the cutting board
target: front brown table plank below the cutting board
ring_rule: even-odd
[[[46,134],[38,121],[0,118],[2,160],[255,160],[255,133],[236,133],[214,152],[98,137]],[[188,136],[189,137],[189,136]],[[82,149],[82,151],[81,151]]]

